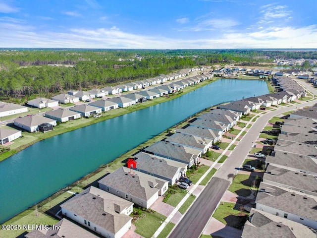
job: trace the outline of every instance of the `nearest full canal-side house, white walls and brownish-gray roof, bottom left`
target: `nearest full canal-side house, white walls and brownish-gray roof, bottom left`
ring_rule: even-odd
[[[60,208],[64,216],[105,238],[121,238],[131,228],[133,203],[93,186]]]

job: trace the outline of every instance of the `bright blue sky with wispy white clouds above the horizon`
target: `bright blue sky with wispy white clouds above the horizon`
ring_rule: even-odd
[[[316,9],[317,0],[0,0],[0,47],[317,48]]]

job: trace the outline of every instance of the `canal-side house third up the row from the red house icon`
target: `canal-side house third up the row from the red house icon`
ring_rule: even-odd
[[[197,135],[174,133],[165,138],[165,141],[176,145],[184,145],[194,149],[202,150],[203,154],[211,147],[212,140]]]

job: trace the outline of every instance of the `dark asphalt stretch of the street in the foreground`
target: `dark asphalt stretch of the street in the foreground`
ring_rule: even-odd
[[[199,238],[230,182],[212,178],[170,238]]]

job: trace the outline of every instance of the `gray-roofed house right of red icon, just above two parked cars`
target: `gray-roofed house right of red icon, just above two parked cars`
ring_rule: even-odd
[[[186,176],[187,164],[160,156],[139,152],[134,155],[136,166],[132,169],[167,180],[173,185],[180,176]],[[128,165],[128,168],[130,166]]]

